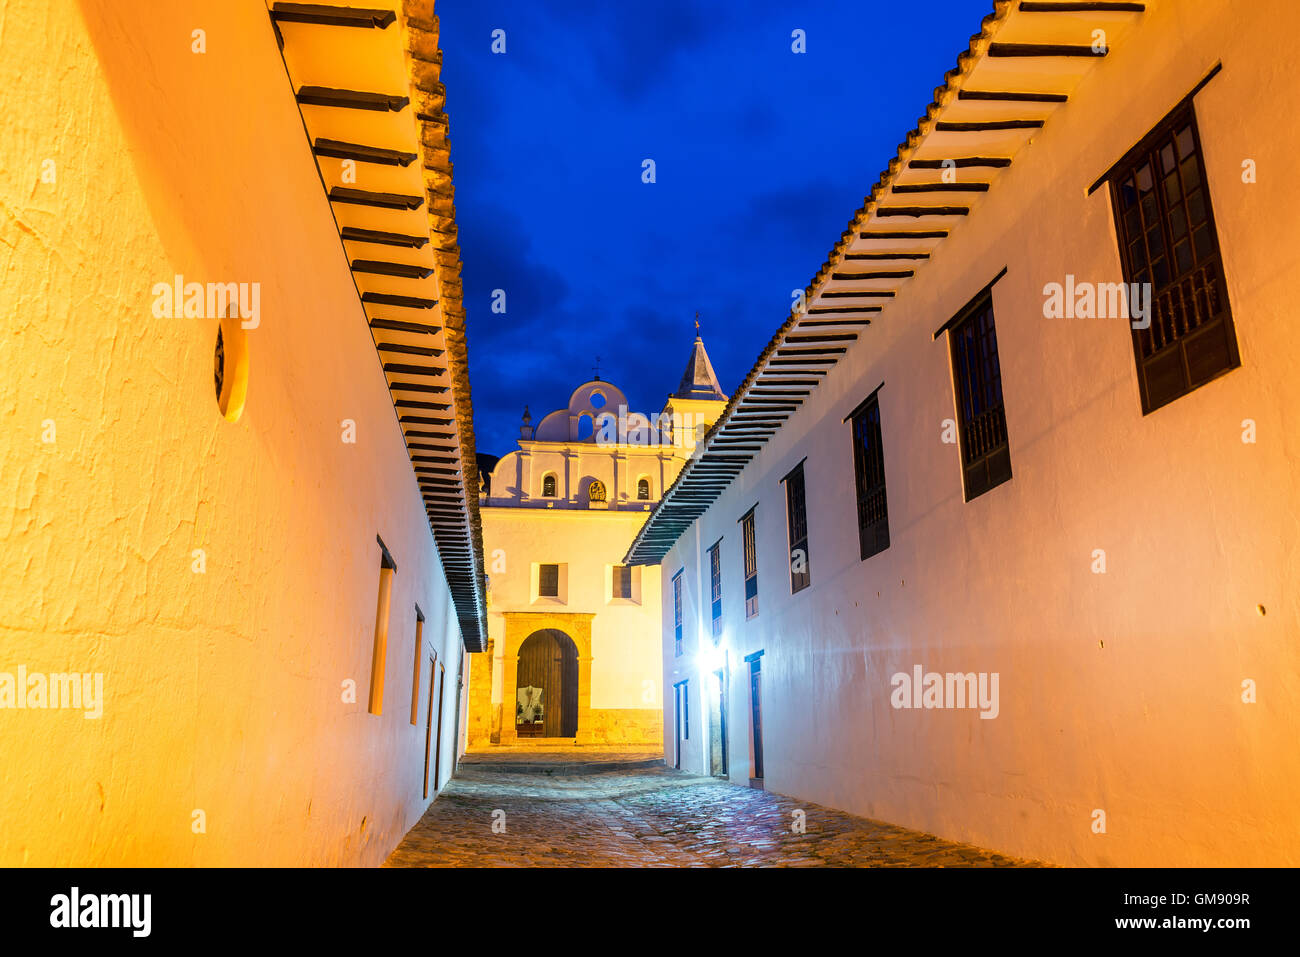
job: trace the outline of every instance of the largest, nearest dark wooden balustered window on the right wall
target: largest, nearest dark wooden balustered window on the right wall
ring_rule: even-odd
[[[1191,101],[1121,160],[1110,196],[1127,296],[1149,290],[1132,329],[1147,415],[1242,364]]]

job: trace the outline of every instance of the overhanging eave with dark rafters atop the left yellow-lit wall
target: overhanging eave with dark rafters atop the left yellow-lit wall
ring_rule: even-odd
[[[270,21],[460,632],[465,648],[478,651],[488,638],[478,469],[433,3],[274,3]],[[398,74],[406,90],[393,90]],[[341,172],[352,163],[365,164],[365,176]]]

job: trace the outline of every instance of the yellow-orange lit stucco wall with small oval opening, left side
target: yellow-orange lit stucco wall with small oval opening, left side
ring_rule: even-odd
[[[107,698],[0,711],[0,865],[378,863],[425,806],[415,603],[448,671],[442,780],[462,646],[266,5],[0,22],[0,670],[103,672]],[[261,283],[235,424],[216,321],[152,316],[176,273]]]

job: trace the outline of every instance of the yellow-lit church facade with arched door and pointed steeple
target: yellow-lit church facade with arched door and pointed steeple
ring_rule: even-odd
[[[472,655],[471,748],[662,741],[656,567],[624,551],[725,406],[697,335],[654,415],[593,378],[484,477],[488,648]]]

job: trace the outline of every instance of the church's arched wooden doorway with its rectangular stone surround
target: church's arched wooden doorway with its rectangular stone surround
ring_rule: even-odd
[[[592,614],[504,612],[500,742],[592,742]],[[540,709],[520,714],[520,689]],[[526,689],[541,689],[536,692]],[[538,714],[540,711],[540,714]],[[524,720],[519,718],[541,718]]]

